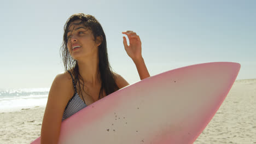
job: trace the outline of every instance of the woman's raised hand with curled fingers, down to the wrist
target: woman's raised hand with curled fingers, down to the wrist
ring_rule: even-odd
[[[139,39],[139,36],[133,32],[133,31],[126,31],[122,32],[123,34],[126,34],[129,38],[130,45],[127,45],[126,38],[124,39],[124,47],[127,55],[133,60],[136,61],[139,58],[142,58],[141,54],[141,39]]]

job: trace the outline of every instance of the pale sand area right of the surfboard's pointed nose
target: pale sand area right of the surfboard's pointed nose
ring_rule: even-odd
[[[194,144],[256,143],[256,79],[237,80]]]

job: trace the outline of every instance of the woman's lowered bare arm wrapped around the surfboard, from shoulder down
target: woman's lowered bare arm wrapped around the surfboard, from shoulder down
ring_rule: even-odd
[[[57,143],[60,135],[61,119],[71,91],[65,74],[55,77],[51,85],[45,107],[41,129],[41,143]]]

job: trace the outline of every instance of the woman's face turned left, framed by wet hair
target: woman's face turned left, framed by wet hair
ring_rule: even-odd
[[[80,20],[76,20],[71,23],[67,33],[67,47],[71,56],[79,61],[85,58],[93,58],[98,55],[98,45],[94,41],[94,35],[89,28],[83,25],[72,25],[73,23],[79,23]]]

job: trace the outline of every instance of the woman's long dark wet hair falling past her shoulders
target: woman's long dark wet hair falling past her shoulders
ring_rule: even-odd
[[[63,42],[60,49],[65,71],[72,70],[72,74],[74,75],[74,83],[75,85],[77,85],[77,82],[78,82],[78,86],[79,86],[78,90],[82,94],[79,79],[83,81],[83,77],[79,74],[79,67],[78,67],[77,61],[71,57],[67,48],[67,43],[68,43],[67,32],[68,32],[69,26],[71,25],[71,22],[74,22],[75,20],[80,20],[80,22],[75,23],[74,25],[82,24],[83,26],[85,26],[86,28],[89,28],[92,31],[95,41],[98,36],[101,37],[102,43],[100,46],[98,46],[98,58],[99,58],[98,67],[100,70],[101,82],[102,82],[101,91],[104,90],[106,92],[106,95],[117,91],[119,88],[117,86],[117,83],[115,83],[116,78],[108,61],[106,35],[103,31],[103,28],[100,22],[98,22],[95,19],[95,17],[92,15],[85,15],[83,13],[73,14],[72,16],[69,17],[69,19],[65,23]],[[82,85],[84,89],[84,86],[86,86],[86,83],[84,84],[84,81],[83,81]],[[82,97],[83,97],[83,94],[82,94]]]

